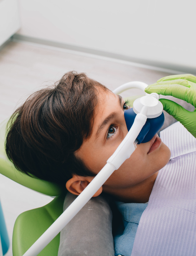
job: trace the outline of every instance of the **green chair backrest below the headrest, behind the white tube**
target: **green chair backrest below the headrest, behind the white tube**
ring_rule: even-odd
[[[57,196],[43,207],[21,213],[14,224],[12,251],[13,256],[22,256],[35,241],[63,213],[65,194]],[[57,256],[60,233],[38,254]]]

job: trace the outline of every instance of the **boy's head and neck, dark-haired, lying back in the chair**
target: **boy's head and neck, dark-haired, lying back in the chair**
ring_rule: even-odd
[[[54,87],[31,95],[12,115],[7,155],[21,172],[79,195],[126,136],[128,108],[104,85],[84,73],[68,72]],[[170,149],[156,134],[137,146],[94,197],[104,191],[116,201],[145,204],[158,171],[169,160]]]

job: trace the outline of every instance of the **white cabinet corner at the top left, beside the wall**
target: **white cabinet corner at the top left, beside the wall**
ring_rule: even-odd
[[[0,45],[20,28],[18,0],[0,0]]]

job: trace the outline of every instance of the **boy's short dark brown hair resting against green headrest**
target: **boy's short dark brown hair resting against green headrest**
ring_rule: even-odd
[[[74,152],[91,136],[98,87],[107,90],[68,72],[32,94],[8,122],[6,153],[16,169],[63,186],[72,174],[95,176]]]

